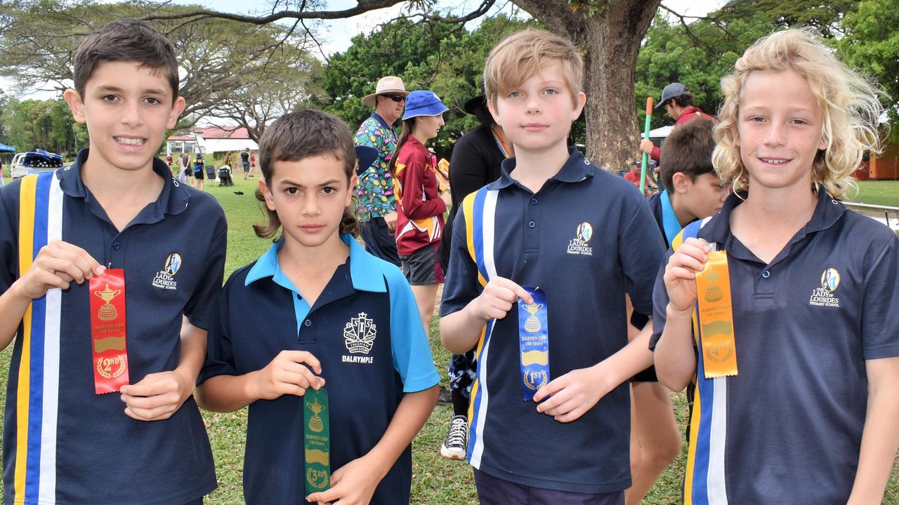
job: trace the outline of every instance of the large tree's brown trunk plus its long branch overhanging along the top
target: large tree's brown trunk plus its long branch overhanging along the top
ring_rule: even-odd
[[[223,13],[196,9],[177,14],[151,15],[158,21],[219,17],[258,25],[285,19],[338,19],[406,4],[411,16],[444,22],[466,22],[484,15],[495,0],[483,0],[475,10],[458,16],[430,12],[432,0],[358,0],[341,11],[316,4],[276,3],[263,15]],[[623,167],[636,152],[637,125],[633,109],[634,66],[643,40],[661,0],[513,0],[551,31],[564,35],[583,49],[587,155],[610,170]]]

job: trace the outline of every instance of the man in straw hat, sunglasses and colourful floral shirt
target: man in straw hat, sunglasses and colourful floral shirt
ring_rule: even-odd
[[[361,224],[365,249],[382,260],[399,266],[396,253],[396,200],[393,178],[387,169],[396,151],[396,131],[393,124],[403,115],[405,97],[403,80],[388,75],[381,77],[375,93],[366,95],[362,103],[374,107],[369,119],[362,121],[356,132],[356,146],[378,149],[378,159],[369,167],[360,167],[356,215]]]

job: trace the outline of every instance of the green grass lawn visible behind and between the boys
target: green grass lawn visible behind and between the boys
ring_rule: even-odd
[[[221,203],[228,220],[228,252],[226,278],[236,268],[254,261],[269,246],[269,242],[257,238],[251,226],[263,222],[263,214],[254,198],[257,177],[243,180],[243,173],[236,173],[233,188],[213,187],[207,181],[207,190]],[[860,201],[868,202],[868,195],[878,195],[885,200],[884,205],[899,206],[899,184],[894,182],[862,182]],[[235,194],[242,191],[243,195]],[[892,202],[892,203],[891,203]],[[431,325],[431,345],[437,368],[445,375],[449,353],[440,345],[436,318]],[[0,353],[0,367],[8,369],[12,346]],[[6,373],[0,373],[0,397],[5,396]],[[444,383],[446,378],[443,379]],[[686,405],[683,394],[672,394],[678,420],[686,419]],[[414,440],[412,503],[419,505],[476,503],[476,492],[471,471],[467,464],[441,458],[439,447],[449,428],[451,407],[439,406]],[[206,502],[221,505],[243,503],[241,479],[244,462],[244,442],[246,410],[234,413],[203,412],[212,450],[216,458],[218,490],[209,495]],[[2,419],[0,419],[2,422]],[[597,434],[601,436],[601,434]],[[825,441],[822,441],[824,443]],[[681,478],[686,461],[686,449],[655,484],[643,503],[650,505],[675,504],[680,502]],[[801,490],[797,490],[801,492]],[[885,503],[899,504],[899,474],[896,466],[890,479]]]

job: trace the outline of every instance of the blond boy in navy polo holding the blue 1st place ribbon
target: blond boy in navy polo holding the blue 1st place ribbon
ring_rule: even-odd
[[[476,347],[467,460],[482,503],[624,503],[629,377],[625,294],[652,309],[663,241],[628,182],[566,146],[586,102],[574,45],[546,31],[487,58],[488,107],[515,146],[453,225],[441,339]]]

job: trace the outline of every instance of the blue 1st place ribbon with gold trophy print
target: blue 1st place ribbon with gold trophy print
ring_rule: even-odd
[[[539,388],[549,384],[549,328],[546,293],[540,288],[522,288],[534,298],[533,304],[518,301],[521,394],[528,402]]]

